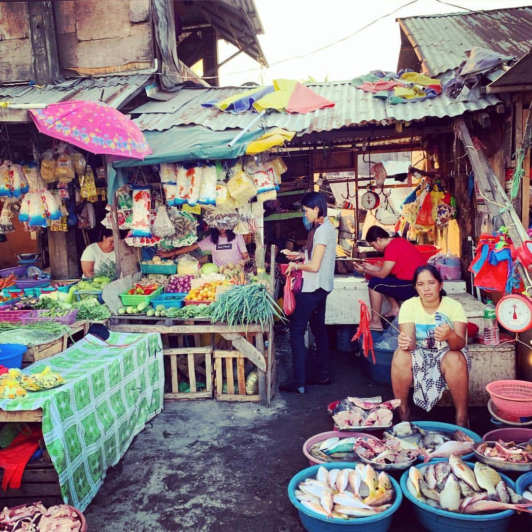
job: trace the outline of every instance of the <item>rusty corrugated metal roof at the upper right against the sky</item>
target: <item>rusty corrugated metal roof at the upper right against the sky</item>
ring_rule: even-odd
[[[517,59],[532,46],[532,6],[410,16],[398,21],[433,76],[459,66],[466,58],[465,51],[473,46]]]

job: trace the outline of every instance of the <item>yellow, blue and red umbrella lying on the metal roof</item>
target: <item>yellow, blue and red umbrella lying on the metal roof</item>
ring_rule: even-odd
[[[254,87],[220,101],[205,102],[202,106],[215,107],[229,113],[275,110],[306,114],[325,107],[334,107],[334,102],[320,96],[299,81],[276,79],[273,85]]]

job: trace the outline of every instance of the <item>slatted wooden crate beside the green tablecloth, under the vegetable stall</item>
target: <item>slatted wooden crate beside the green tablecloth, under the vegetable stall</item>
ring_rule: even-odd
[[[205,399],[211,398],[212,389],[212,347],[173,347],[163,350],[170,358],[170,382],[172,391],[165,393],[165,399]],[[203,368],[202,363],[205,363]],[[179,391],[178,370],[188,376],[190,392]],[[206,388],[197,390],[197,375],[205,379]]]

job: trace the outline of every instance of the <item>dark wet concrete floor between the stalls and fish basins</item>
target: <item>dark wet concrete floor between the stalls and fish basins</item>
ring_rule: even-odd
[[[279,381],[289,375],[286,335],[278,338]],[[252,403],[168,401],[129,447],[85,511],[91,532],[303,532],[287,496],[292,476],[307,467],[301,448],[332,430],[327,405],[348,395],[392,397],[365,377],[361,359],[332,353],[332,386],[307,395],[277,393],[270,408]],[[414,419],[453,422],[454,409]],[[471,428],[491,428],[487,409],[473,409]],[[404,503],[392,530],[412,530]],[[417,525],[415,530],[422,530]]]

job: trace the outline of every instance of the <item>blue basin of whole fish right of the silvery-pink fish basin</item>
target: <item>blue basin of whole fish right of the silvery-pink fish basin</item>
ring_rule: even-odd
[[[438,462],[446,462],[447,460],[437,460]],[[433,462],[434,463],[434,462]],[[472,469],[475,464],[466,462]],[[415,467],[424,469],[428,467],[429,463],[418,464]],[[506,475],[499,472],[502,479],[508,486],[514,489],[514,482]],[[448,512],[447,510],[440,510],[433,508],[428,504],[418,501],[406,487],[406,480],[408,479],[408,470],[401,476],[401,489],[403,495],[413,504],[414,515],[417,520],[429,532],[453,532],[454,530],[475,530],[482,532],[506,532],[510,526],[510,520],[514,510],[504,510],[502,512],[495,512],[489,514],[464,514]]]

